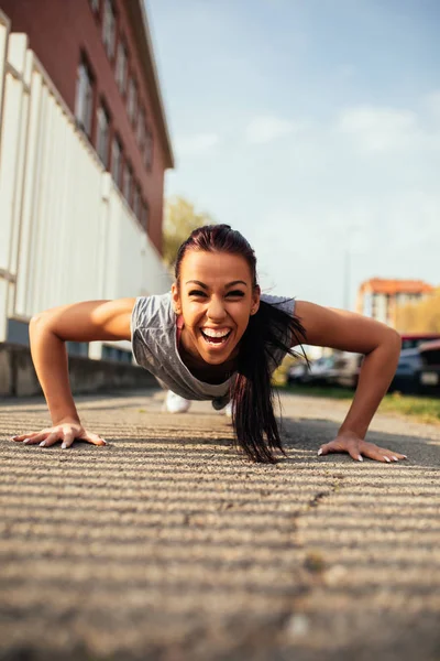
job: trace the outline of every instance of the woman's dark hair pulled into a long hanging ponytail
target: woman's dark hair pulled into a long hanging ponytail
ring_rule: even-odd
[[[257,286],[255,253],[246,239],[229,225],[206,225],[190,234],[177,252],[177,283],[187,250],[241,254],[251,269],[253,286]],[[261,301],[240,340],[238,373],[231,391],[232,423],[239,446],[254,462],[276,464],[275,449],[286,456],[274,414],[271,376],[276,366],[274,350],[297,356],[290,347],[301,344],[298,336],[304,339],[306,330],[297,317]]]

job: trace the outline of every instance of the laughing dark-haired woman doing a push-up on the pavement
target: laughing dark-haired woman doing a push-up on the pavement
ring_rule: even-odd
[[[43,446],[75,438],[105,445],[85,430],[68,380],[65,342],[131,339],[136,361],[162,386],[216,409],[232,401],[235,440],[255,462],[285,455],[273,411],[271,375],[302,342],[365,355],[358,390],[334,440],[318,452],[380,462],[405,455],[367,443],[370,422],[393,379],[400,337],[388,326],[306,301],[261,295],[251,246],[228,225],[196,229],[180,246],[172,292],[89,301],[48,310],[30,323],[31,353],[53,426],[14,436]]]

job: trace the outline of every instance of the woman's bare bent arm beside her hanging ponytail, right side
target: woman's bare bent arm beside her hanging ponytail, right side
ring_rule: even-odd
[[[363,440],[396,371],[402,348],[399,334],[360,314],[306,301],[297,302],[295,314],[306,329],[307,344],[365,355],[353,402],[338,432],[338,436]]]

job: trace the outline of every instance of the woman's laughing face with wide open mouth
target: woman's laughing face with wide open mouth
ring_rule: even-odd
[[[200,365],[222,365],[237,355],[260,288],[241,254],[187,250],[179,286],[173,284],[175,310],[184,317],[183,348]]]

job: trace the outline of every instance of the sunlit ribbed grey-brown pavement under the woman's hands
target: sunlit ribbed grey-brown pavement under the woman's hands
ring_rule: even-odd
[[[288,458],[209,403],[78,397],[107,447],[23,446],[0,403],[0,660],[440,660],[440,426],[377,415],[407,462],[318,457],[346,402],[283,395]]]

